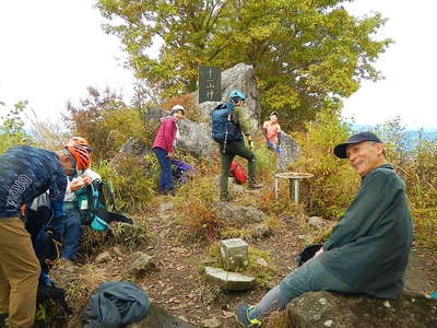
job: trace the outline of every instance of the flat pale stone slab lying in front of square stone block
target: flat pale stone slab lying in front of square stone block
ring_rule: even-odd
[[[222,268],[205,267],[206,278],[225,291],[247,291],[255,284],[255,278],[238,272],[225,271]]]

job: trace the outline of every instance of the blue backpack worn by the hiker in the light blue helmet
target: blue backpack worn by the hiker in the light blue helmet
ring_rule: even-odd
[[[243,134],[238,125],[233,120],[234,105],[220,104],[211,110],[212,139],[218,143],[241,141]]]

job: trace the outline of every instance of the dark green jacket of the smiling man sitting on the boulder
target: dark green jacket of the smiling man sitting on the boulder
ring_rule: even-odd
[[[357,293],[395,298],[412,244],[405,186],[389,164],[368,173],[319,259]]]

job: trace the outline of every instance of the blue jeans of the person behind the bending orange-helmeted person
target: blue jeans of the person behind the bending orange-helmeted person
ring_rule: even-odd
[[[81,243],[81,214],[79,213],[78,208],[66,207],[66,203],[64,212],[67,214],[67,218],[61,224],[60,232],[61,236],[63,237],[61,257],[74,261],[78,254],[79,245]]]

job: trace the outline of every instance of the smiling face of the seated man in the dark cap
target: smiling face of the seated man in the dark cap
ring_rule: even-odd
[[[381,143],[364,141],[351,144],[346,147],[346,154],[351,165],[361,176],[365,176],[367,173],[385,163]]]

